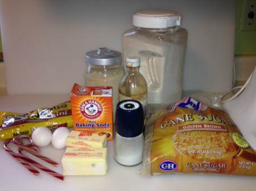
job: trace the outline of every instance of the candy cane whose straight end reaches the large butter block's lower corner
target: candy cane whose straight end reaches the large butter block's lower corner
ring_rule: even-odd
[[[26,160],[28,163],[34,165],[35,167],[41,169],[42,171],[47,172],[49,175],[52,175],[52,176],[56,177],[57,179],[64,180],[63,175],[61,175],[61,174],[59,174],[55,171],[52,171],[51,169],[49,169],[49,168],[45,167],[44,165],[36,162],[35,160],[32,160],[32,159],[28,158],[26,155],[23,155],[22,152],[21,152],[22,150],[23,150],[23,148],[21,148],[21,147],[19,147],[18,150],[17,150],[17,153],[18,153],[17,155],[20,158],[22,158],[23,160]]]

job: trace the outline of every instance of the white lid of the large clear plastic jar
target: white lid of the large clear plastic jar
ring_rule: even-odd
[[[181,15],[172,11],[145,10],[133,14],[133,25],[143,28],[180,26]]]

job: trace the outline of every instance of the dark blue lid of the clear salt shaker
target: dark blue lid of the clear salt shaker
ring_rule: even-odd
[[[136,100],[119,101],[115,111],[115,128],[122,137],[141,135],[144,128],[142,104]]]

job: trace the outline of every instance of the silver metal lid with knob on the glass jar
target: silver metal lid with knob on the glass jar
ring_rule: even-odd
[[[122,61],[122,54],[109,48],[98,48],[86,53],[85,60],[89,65],[119,65]]]

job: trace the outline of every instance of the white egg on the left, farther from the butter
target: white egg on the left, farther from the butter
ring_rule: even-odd
[[[36,146],[45,147],[51,143],[52,131],[45,126],[39,126],[33,131],[31,138]]]

